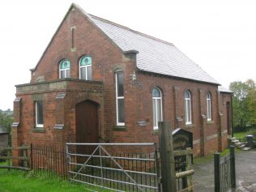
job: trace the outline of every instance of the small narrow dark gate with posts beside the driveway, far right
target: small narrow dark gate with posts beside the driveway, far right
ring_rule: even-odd
[[[220,153],[214,154],[215,192],[226,192],[236,187],[235,152],[230,147],[230,154],[220,158]]]

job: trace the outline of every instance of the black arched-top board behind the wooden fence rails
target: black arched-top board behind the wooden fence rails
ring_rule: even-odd
[[[173,130],[173,150],[186,150],[187,147],[193,148],[193,134],[180,128]],[[176,171],[186,169],[186,156],[175,156],[174,161]]]

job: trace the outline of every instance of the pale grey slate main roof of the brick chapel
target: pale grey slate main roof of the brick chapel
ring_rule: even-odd
[[[69,14],[72,8],[78,9],[93,25],[99,28],[105,36],[108,36],[109,41],[112,41],[113,45],[117,45],[123,53],[129,52],[130,50],[138,51],[136,64],[139,70],[181,79],[219,84],[200,66],[186,57],[175,45],[152,36],[147,36],[141,32],[136,32],[130,28],[110,22],[109,20],[101,19],[94,15],[88,15],[75,3],[72,3],[66,15]],[[66,15],[62,23],[66,19]],[[57,32],[54,33],[53,37]]]

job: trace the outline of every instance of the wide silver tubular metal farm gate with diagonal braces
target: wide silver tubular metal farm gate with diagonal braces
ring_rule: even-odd
[[[66,156],[69,180],[92,190],[160,191],[156,143],[66,143]]]

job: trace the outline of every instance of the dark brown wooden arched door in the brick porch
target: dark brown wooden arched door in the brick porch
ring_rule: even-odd
[[[75,127],[77,143],[98,143],[98,104],[84,100],[75,106]]]

